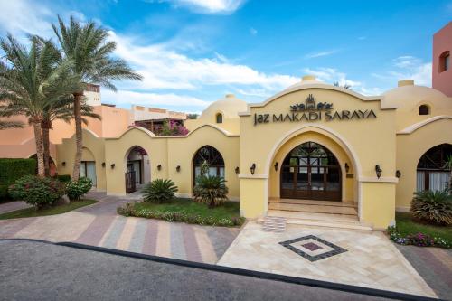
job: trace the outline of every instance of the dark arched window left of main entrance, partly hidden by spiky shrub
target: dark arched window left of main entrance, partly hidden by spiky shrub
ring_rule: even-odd
[[[193,184],[196,177],[201,175],[203,164],[209,166],[208,174],[224,178],[224,160],[220,152],[212,146],[202,146],[193,158]]]

